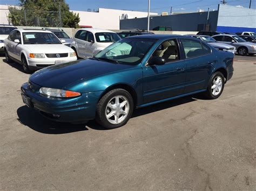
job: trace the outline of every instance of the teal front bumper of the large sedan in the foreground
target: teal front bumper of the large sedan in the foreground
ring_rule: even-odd
[[[30,100],[30,107],[44,117],[57,122],[83,122],[95,118],[96,107],[102,91],[84,93],[74,98],[47,97],[39,94],[41,86],[33,82],[24,83],[21,94]]]

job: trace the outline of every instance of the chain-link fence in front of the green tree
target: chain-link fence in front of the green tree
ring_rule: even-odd
[[[61,13],[57,11],[9,9],[9,23],[17,26],[62,27]]]

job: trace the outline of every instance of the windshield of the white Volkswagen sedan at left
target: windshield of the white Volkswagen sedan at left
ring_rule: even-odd
[[[23,32],[23,44],[62,44],[59,39],[50,32]]]

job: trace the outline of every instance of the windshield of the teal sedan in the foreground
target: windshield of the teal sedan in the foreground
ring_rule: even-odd
[[[125,38],[106,47],[95,59],[136,65],[140,63],[157,39]]]

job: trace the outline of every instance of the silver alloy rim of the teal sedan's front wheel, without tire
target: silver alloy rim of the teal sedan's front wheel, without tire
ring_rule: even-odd
[[[119,124],[129,114],[130,104],[126,97],[115,96],[106,105],[105,116],[111,124]]]

